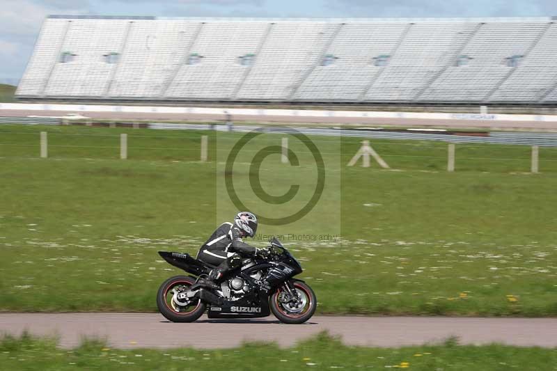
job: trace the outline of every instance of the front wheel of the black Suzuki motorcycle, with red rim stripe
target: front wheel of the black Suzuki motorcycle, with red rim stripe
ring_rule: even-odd
[[[273,315],[285,324],[303,324],[307,322],[317,309],[317,297],[311,287],[301,281],[292,281],[292,287],[297,291],[301,303],[293,306],[290,303],[281,301],[281,293],[285,292],[284,287],[278,289],[271,295],[269,306]]]

